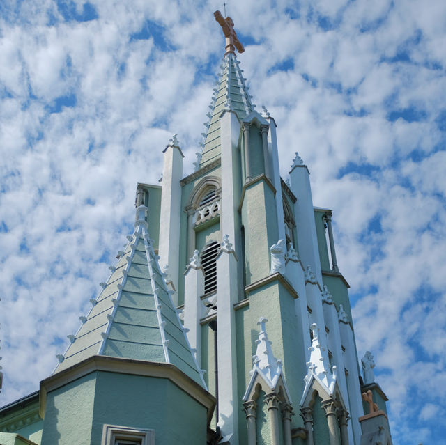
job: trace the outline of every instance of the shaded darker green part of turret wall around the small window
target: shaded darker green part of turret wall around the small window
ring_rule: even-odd
[[[206,408],[170,380],[97,374],[91,445],[105,423],[155,429],[157,445],[206,444]]]

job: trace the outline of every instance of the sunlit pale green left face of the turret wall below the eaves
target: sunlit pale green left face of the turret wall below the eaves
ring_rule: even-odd
[[[95,386],[91,373],[47,394],[42,445],[91,444]]]

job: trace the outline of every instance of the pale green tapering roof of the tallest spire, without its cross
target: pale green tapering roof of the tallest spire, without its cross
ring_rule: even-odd
[[[254,110],[255,105],[251,102],[251,96],[248,94],[248,87],[245,84],[246,79],[243,77],[243,70],[240,70],[239,65],[240,62],[235,53],[228,52],[224,55],[222,71],[209,105],[208,122],[205,123],[206,132],[202,133],[201,157],[197,169],[220,157],[220,115],[222,111],[231,109],[242,120]]]

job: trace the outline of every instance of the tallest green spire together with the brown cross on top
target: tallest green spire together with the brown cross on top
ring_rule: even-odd
[[[208,116],[208,120],[204,124],[206,128],[201,133],[203,141],[200,143],[201,153],[197,154],[196,170],[220,157],[220,115],[222,111],[233,111],[240,120],[243,120],[255,108],[251,102],[252,96],[249,95],[249,88],[245,84],[243,70],[240,69],[240,62],[236,57],[235,49],[238,52],[244,52],[245,48],[233,29],[233,21],[231,17],[224,19],[220,11],[215,11],[214,16],[222,26],[226,37],[226,52],[222,65],[220,65],[220,76],[209,104],[210,111],[206,114]]]

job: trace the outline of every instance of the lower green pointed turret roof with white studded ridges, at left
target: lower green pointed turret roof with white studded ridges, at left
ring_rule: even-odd
[[[206,388],[158,264],[152,240],[140,215],[129,242],[102,292],[70,338],[65,354],[57,356],[59,372],[93,355],[123,357],[174,364]]]

